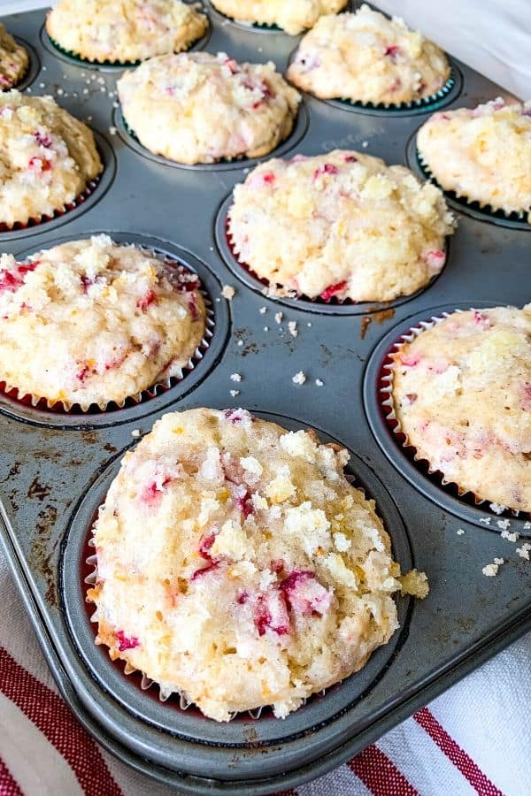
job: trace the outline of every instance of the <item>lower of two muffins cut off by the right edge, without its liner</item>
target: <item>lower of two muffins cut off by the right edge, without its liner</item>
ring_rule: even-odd
[[[461,493],[531,511],[531,304],[453,312],[391,356],[417,458]]]

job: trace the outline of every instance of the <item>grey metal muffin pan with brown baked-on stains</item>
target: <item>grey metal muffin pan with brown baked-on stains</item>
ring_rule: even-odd
[[[271,59],[285,68],[294,37],[238,27],[213,12],[210,17],[210,51]],[[449,495],[407,459],[378,416],[376,392],[381,362],[419,319],[453,307],[521,306],[531,297],[529,230],[458,212],[443,272],[406,301],[334,306],[262,295],[259,283],[251,284],[247,272],[227,260],[219,226],[219,209],[252,164],[180,169],[141,157],[114,129],[116,97],[108,92],[115,92],[119,71],[66,61],[45,48],[42,11],[3,21],[36,50],[41,71],[31,92],[51,93],[74,115],[91,117],[98,142],[104,140],[112,155],[94,202],[82,213],[65,213],[60,229],[50,221],[2,233],[1,250],[27,256],[65,238],[105,231],[181,259],[200,275],[215,313],[204,359],[149,401],[65,414],[0,397],[0,539],[50,669],[96,739],[180,792],[268,793],[318,777],[531,626],[531,570],[501,538],[500,517],[488,504],[471,506]],[[450,107],[504,94],[465,65],[458,69],[462,92]],[[310,96],[304,105],[308,125],[290,155],[342,147],[406,163],[408,141],[429,115],[429,109],[416,116],[357,112]],[[221,296],[226,284],[235,287],[232,302]],[[296,339],[289,320],[297,324]],[[302,386],[291,380],[297,371],[306,375]],[[230,379],[235,372],[242,375],[238,384]],[[240,394],[233,397],[235,387]],[[127,679],[123,664],[112,664],[92,645],[82,572],[91,520],[121,456],[135,444],[132,432],[149,432],[168,410],[239,405],[281,425],[311,426],[323,440],[349,448],[350,471],[376,499],[398,560],[404,569],[425,570],[431,592],[425,601],[399,598],[401,630],[389,645],[364,670],[284,721],[266,710],[258,719],[236,716],[218,724],[195,708],[183,712],[174,698],[160,703],[154,686],[142,693],[135,675]],[[522,518],[508,519],[510,530],[528,534]],[[458,528],[465,533],[458,535]],[[506,563],[496,578],[486,578],[481,568],[495,556]]]

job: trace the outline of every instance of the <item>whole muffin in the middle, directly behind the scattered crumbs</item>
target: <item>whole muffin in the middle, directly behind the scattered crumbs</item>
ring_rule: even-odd
[[[242,264],[285,294],[324,301],[414,293],[443,268],[453,228],[435,186],[342,149],[258,165],[228,213]]]

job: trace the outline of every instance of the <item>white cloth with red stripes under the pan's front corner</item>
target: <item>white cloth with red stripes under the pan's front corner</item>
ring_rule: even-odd
[[[0,615],[0,796],[179,792],[127,769],[76,722],[50,680],[1,559]],[[530,650],[531,636],[348,764],[278,796],[528,796]],[[524,717],[513,737],[500,709],[500,675],[514,665],[521,673],[522,662],[527,692],[520,693]]]

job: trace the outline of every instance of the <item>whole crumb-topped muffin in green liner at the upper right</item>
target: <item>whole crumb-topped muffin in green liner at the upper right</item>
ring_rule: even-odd
[[[402,19],[368,5],[321,17],[289,65],[288,78],[322,99],[397,105],[434,96],[450,78],[443,50]]]

